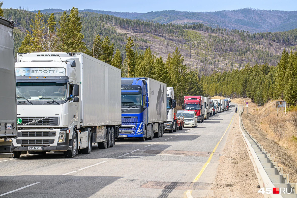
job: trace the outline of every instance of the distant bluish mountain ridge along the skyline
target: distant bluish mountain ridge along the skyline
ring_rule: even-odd
[[[45,9],[41,12],[63,12],[62,9]],[[121,18],[149,20],[157,23],[192,24],[204,23],[213,28],[248,30],[250,32],[288,31],[297,28],[297,11],[260,10],[243,8],[217,12],[184,12],[164,10],[147,13],[113,12],[84,9],[80,12],[94,12]]]

